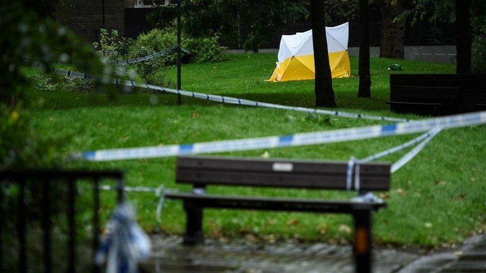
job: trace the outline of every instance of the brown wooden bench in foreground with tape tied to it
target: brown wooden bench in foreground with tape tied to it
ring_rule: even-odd
[[[371,211],[385,207],[383,202],[214,195],[205,192],[207,185],[355,190],[358,186],[356,181],[350,184],[347,175],[348,162],[185,156],[178,158],[176,182],[193,184],[193,191],[167,193],[166,197],[184,201],[187,216],[184,244],[188,245],[204,241],[204,208],[351,214],[355,220],[354,254],[357,268],[367,272],[371,258]],[[362,192],[388,190],[390,164],[363,163],[359,176]]]

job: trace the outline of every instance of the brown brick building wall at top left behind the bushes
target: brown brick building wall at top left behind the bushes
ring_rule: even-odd
[[[133,0],[104,0],[105,28],[116,29],[120,35],[125,32],[125,8],[133,7]],[[89,42],[99,40],[103,28],[103,0],[71,0],[62,12],[65,23]]]

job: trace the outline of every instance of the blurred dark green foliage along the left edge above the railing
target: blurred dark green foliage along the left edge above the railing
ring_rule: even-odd
[[[49,76],[52,64],[60,61],[103,75],[100,56],[77,35],[52,20],[39,19],[21,2],[2,1],[0,14],[0,169],[51,166],[58,162],[60,144],[30,126],[25,94],[34,86],[22,69],[35,67]],[[34,81],[51,88],[45,80]]]

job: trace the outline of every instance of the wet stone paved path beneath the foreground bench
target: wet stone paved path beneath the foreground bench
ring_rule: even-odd
[[[290,241],[261,244],[248,240],[222,243],[207,239],[203,246],[186,247],[179,236],[154,235],[151,239],[154,254],[142,265],[143,272],[354,272],[350,246]],[[375,249],[373,253],[376,273],[486,273],[486,235],[474,236],[456,249],[429,255],[397,249]]]

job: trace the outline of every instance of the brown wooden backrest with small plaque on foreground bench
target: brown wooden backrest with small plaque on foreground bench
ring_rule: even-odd
[[[176,182],[196,187],[219,184],[346,189],[347,169],[348,162],[184,156],[177,160]],[[360,165],[361,189],[388,190],[389,181],[389,163]]]

